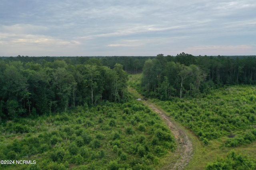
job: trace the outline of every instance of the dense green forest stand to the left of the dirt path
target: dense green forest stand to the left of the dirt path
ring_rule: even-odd
[[[0,119],[125,99],[128,75],[121,64],[111,69],[95,58],[82,64],[40,57],[36,61],[0,59]]]

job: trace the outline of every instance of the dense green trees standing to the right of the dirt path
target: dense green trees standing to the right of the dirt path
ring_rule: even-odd
[[[196,96],[209,88],[229,84],[256,84],[256,57],[195,57],[159,54],[144,63],[142,88],[146,96]]]

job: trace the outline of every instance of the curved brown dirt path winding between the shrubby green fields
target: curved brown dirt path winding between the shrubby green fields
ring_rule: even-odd
[[[174,158],[176,160],[168,164],[166,168],[170,170],[183,170],[192,158],[192,141],[186,132],[175,121],[170,120],[163,111],[148,101],[143,100],[142,102],[160,115],[175,137],[177,149],[175,150]]]

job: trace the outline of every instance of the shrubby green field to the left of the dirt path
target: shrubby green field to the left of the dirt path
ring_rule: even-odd
[[[176,148],[159,115],[136,100],[7,121],[0,133],[2,160],[36,160],[4,169],[154,169]]]

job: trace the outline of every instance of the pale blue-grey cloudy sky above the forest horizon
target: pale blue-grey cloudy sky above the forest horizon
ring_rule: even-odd
[[[1,0],[0,56],[256,55],[255,0]]]

